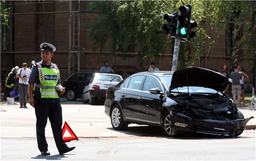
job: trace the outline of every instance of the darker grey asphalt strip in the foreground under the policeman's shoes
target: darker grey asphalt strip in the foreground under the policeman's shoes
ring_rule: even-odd
[[[53,138],[47,138],[50,156],[39,155],[36,138],[4,138],[1,160],[254,160],[255,133],[235,138],[157,136],[81,138],[71,141],[76,149],[59,155]]]

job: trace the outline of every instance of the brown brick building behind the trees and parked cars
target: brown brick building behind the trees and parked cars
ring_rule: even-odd
[[[97,14],[90,11],[88,7],[90,1],[40,0],[8,1],[8,3],[12,11],[11,26],[9,30],[4,27],[1,29],[1,81],[6,78],[12,67],[16,65],[21,67],[23,62],[40,61],[39,45],[42,42],[52,43],[56,47],[52,61],[60,68],[62,80],[76,72],[78,68],[79,71],[99,70],[105,60],[109,60],[110,65],[116,62],[116,72],[124,78],[148,68],[148,65],[144,65],[144,68],[139,67],[137,45],[133,46],[133,50],[126,55],[125,59],[121,52],[114,57],[110,52],[110,45],[106,45],[101,57],[93,52],[92,42],[87,39],[87,29],[84,27],[86,21],[97,18]],[[218,71],[222,64],[229,67],[230,48],[226,28],[223,32],[219,32],[223,30],[222,26],[215,27],[215,30],[209,29],[207,25],[202,26],[215,43],[210,50],[207,45],[204,47],[205,52],[200,56],[196,66],[214,71]],[[221,34],[218,35],[219,33]],[[169,48],[166,54],[158,59],[157,67],[160,70],[170,70],[172,57],[173,48]],[[189,57],[190,59],[195,57],[192,47]],[[246,90],[251,91],[252,84],[255,83],[253,71],[256,68],[256,59],[243,57],[241,50],[239,60],[249,75]],[[114,65],[113,68],[115,68]]]

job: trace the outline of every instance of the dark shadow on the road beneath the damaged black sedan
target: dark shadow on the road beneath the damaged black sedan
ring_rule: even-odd
[[[113,130],[115,132],[121,132],[126,135],[130,136],[145,136],[145,137],[160,137],[160,138],[167,138],[167,139],[181,139],[181,140],[209,140],[209,139],[238,139],[238,137],[224,137],[224,136],[212,136],[212,135],[204,135],[200,133],[187,133],[181,134],[180,137],[173,138],[167,137],[162,128],[153,127],[153,126],[131,126],[124,130],[124,131],[117,131],[113,128],[107,128],[109,130]]]

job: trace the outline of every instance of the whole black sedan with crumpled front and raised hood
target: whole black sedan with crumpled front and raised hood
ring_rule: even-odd
[[[126,80],[138,75],[141,77],[138,89],[129,91],[131,81]],[[166,81],[161,77],[164,73],[158,75],[137,73],[108,89],[105,113],[110,116],[114,129],[124,130],[128,124],[136,123],[160,126],[166,136],[172,137],[187,132],[239,136],[253,118],[245,119],[233,98],[223,93],[231,80],[218,72],[196,67],[177,70],[169,73],[169,89],[165,88]],[[158,83],[150,82],[149,85],[154,86],[143,91],[144,86],[149,86],[147,78],[152,76]],[[142,101],[145,98],[151,99]]]

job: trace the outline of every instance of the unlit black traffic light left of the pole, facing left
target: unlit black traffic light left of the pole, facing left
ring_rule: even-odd
[[[177,29],[177,13],[173,14],[165,14],[164,19],[169,22],[168,25],[164,24],[162,26],[162,29],[166,31],[167,35],[170,35],[171,37],[176,36],[176,29]]]

